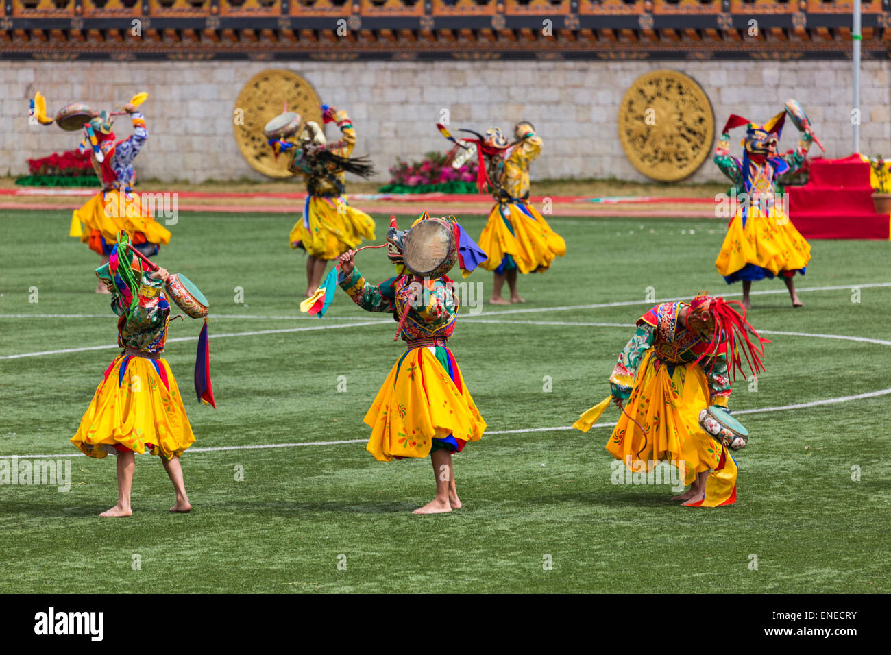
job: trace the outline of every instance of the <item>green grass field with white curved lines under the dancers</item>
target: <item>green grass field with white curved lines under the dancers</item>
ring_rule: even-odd
[[[108,299],[93,292],[98,258],[67,238],[69,217],[0,212],[0,455],[74,452],[69,438],[117,353],[8,357],[115,342]],[[386,217],[375,218],[382,237]],[[172,488],[150,456],[137,458],[131,519],[96,517],[116,499],[111,457],[70,458],[68,493],[0,486],[0,592],[888,591],[888,396],[740,416],[752,438],[737,457],[739,501],[714,510],[678,507],[667,487],[611,484],[609,428],[519,431],[569,426],[608,393],[648,293],[740,292],[713,265],[723,221],[552,218],[568,254],[522,278],[527,304],[464,308],[450,345],[492,434],[455,458],[460,511],[414,516],[432,497],[429,461],[378,463],[362,443],[201,452],[366,438],[362,417],[401,352],[395,323],[342,291],[323,320],[299,316],[292,220],[184,214],[158,258],[197,282],[215,315],[217,411],[192,400],[199,323],[171,323],[168,335],[198,439],[183,457],[194,511],[167,512]],[[478,235],[483,220],[462,223]],[[736,410],[891,388],[891,244],[812,246],[805,307],[790,307],[781,282],[760,282],[771,293],[754,297],[751,321],[879,342],[768,333],[767,372],[756,391],[737,382]],[[358,266],[372,280],[390,270],[373,250]],[[470,282],[488,297],[490,274]],[[578,307],[607,303],[625,304]],[[246,334],[262,331],[279,332]],[[615,420],[608,410],[601,422]]]

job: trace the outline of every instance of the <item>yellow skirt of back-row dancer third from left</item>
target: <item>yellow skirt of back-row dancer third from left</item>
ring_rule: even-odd
[[[544,272],[566,254],[563,237],[526,201],[496,204],[478,245],[489,256],[480,266],[499,273],[514,267],[522,274]]]

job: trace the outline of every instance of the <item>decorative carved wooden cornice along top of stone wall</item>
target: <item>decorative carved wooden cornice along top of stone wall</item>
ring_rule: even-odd
[[[0,58],[844,59],[851,0],[0,0]],[[864,59],[891,0],[863,0]],[[755,22],[753,22],[755,21]]]

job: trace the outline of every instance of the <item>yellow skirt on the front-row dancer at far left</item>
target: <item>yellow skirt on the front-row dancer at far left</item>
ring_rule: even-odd
[[[105,372],[71,443],[91,457],[115,450],[167,459],[195,441],[183,398],[164,359],[120,355]]]

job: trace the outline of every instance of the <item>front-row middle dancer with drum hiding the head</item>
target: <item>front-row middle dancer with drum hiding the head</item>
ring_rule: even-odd
[[[470,272],[486,258],[464,233],[454,217],[429,218],[454,232],[457,249],[448,255]],[[388,257],[404,264],[406,232],[391,219],[387,233]],[[462,506],[455,488],[452,455],[462,452],[469,441],[477,441],[486,430],[477,405],[462,377],[448,340],[454,332],[459,299],[446,274],[421,278],[412,273],[390,277],[380,284],[365,281],[356,268],[355,250],[339,260],[337,282],[356,305],[370,312],[392,314],[399,323],[397,336],[405,341],[405,352],[384,381],[364,422],[372,428],[366,449],[375,459],[390,462],[405,457],[430,455],[436,477],[436,495],[416,514],[451,512]]]

